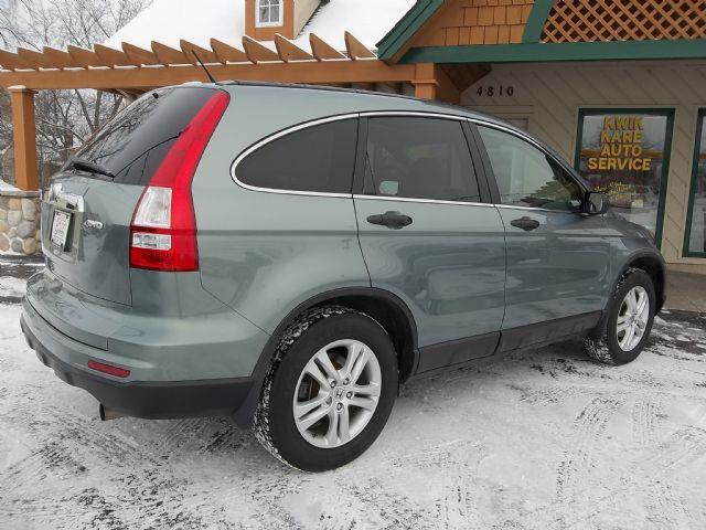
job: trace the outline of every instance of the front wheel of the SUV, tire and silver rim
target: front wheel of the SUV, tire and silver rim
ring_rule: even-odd
[[[646,301],[646,307],[640,304]],[[616,286],[608,312],[585,340],[584,351],[606,364],[627,364],[642,352],[654,322],[654,284],[640,268],[627,269]]]

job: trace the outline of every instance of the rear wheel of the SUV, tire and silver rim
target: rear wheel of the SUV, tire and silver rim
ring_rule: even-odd
[[[375,319],[341,306],[314,308],[279,341],[255,413],[255,435],[297,469],[334,469],[375,442],[397,385],[397,354]]]

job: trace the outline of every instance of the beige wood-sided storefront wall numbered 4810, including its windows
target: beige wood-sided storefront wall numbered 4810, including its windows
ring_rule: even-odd
[[[542,138],[693,269],[706,258],[705,88],[698,61],[498,64],[461,104]]]

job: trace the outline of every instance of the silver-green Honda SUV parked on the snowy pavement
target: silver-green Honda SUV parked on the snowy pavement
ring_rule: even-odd
[[[411,98],[146,94],[45,190],[22,329],[104,418],[232,415],[307,470],[362,454],[398,385],[585,337],[632,361],[650,234],[550,149]]]

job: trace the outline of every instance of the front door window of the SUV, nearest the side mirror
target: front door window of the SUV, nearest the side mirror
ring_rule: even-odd
[[[578,183],[533,145],[489,127],[478,127],[503,204],[578,211]]]

